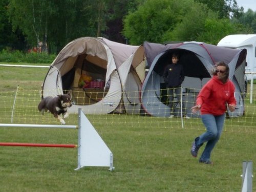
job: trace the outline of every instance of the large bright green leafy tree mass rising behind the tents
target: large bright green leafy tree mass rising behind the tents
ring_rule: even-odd
[[[217,45],[228,34],[249,31],[248,27],[232,22],[229,17],[220,18],[219,12],[212,11],[204,3],[183,1],[179,6],[176,3],[172,0],[147,1],[126,16],[123,34],[130,38],[132,44],[147,40],[160,43],[203,41]],[[226,13],[230,14],[230,10]]]

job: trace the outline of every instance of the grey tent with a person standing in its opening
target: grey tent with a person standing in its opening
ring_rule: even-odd
[[[148,66],[150,66],[141,88],[141,106],[145,113],[158,117],[169,116],[170,109],[162,74],[168,58],[173,52],[178,52],[185,73],[185,79],[182,83],[182,98],[188,116],[199,116],[199,114],[191,114],[190,108],[195,104],[201,88],[211,78],[210,71],[218,61],[228,63],[229,79],[236,87],[237,108],[235,112],[228,112],[228,114],[229,116],[242,116],[244,114],[244,95],[242,92],[246,65],[245,49],[235,50],[195,41],[167,45],[144,42],[144,49]],[[177,116],[181,116],[182,112],[180,111],[177,102],[175,111]]]

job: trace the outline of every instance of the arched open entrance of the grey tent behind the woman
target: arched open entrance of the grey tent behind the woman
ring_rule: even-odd
[[[171,49],[162,53],[162,55],[160,55],[156,62],[151,66],[149,71],[150,74],[148,74],[147,79],[145,80],[145,82],[147,82],[144,84],[145,88],[142,88],[142,90],[145,89],[152,91],[143,93],[142,102],[154,102],[155,104],[154,107],[146,105],[147,113],[156,116],[169,115],[170,103],[168,100],[166,83],[163,79],[163,72],[168,63],[172,62],[173,53],[179,54],[179,63],[183,66],[184,69],[185,78],[181,84],[182,102],[185,108],[183,113],[186,113],[189,116],[198,116],[198,114],[191,114],[190,108],[195,105],[196,97],[202,88],[203,80],[209,80],[211,76],[207,71],[203,61],[200,59],[200,55],[194,53],[193,51],[184,49]],[[152,93],[153,95],[151,95]],[[177,101],[176,96],[174,102],[175,106],[173,114],[175,116],[181,116],[181,103]],[[165,113],[163,113],[163,111]]]

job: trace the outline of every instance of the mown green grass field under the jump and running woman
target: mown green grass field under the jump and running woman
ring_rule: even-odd
[[[39,90],[48,69],[0,67],[0,71],[2,93],[15,91],[17,85]],[[168,127],[168,121],[160,118],[151,118],[146,126],[150,117],[132,122],[134,116],[100,120],[89,116],[114,154],[113,172],[108,167],[75,171],[77,149],[73,148],[0,146],[0,191],[241,191],[242,162],[256,162],[251,114],[243,119],[250,121],[248,132],[233,130],[237,123],[227,120],[231,125],[212,153],[214,165],[200,164],[190,155],[191,142],[204,131],[198,120],[190,123],[197,127],[181,129],[175,123]],[[77,131],[0,127],[0,141],[77,144]],[[254,178],[252,191],[256,191]]]

